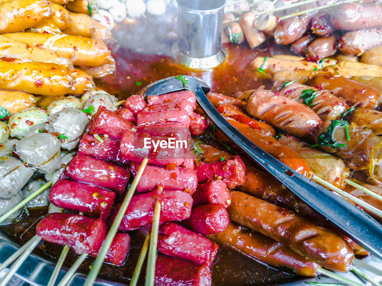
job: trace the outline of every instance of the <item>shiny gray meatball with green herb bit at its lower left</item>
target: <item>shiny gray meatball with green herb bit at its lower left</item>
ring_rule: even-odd
[[[62,134],[61,148],[71,150],[78,145],[79,137],[84,134],[87,124],[89,119],[83,111],[64,108],[51,116],[48,131]]]

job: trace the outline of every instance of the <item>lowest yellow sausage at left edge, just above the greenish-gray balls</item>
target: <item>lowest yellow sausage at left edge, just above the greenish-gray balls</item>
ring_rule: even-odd
[[[0,89],[0,106],[6,108],[11,115],[27,107],[36,105],[39,97],[26,92]]]

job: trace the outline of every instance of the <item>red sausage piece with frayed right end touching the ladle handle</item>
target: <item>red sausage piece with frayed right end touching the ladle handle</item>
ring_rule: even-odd
[[[239,156],[222,162],[197,162],[194,170],[198,183],[206,183],[212,178],[221,179],[228,189],[233,189],[245,181],[245,166]]]

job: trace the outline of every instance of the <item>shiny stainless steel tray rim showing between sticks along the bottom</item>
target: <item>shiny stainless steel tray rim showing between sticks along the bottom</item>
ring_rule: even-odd
[[[8,257],[10,257],[19,246],[13,242],[10,241],[3,233],[0,232],[0,264],[3,263]],[[377,269],[382,270],[382,261],[377,260],[373,256],[368,256],[364,258],[363,260],[369,265],[372,265],[376,267]],[[50,262],[49,260],[46,260],[42,257],[39,257],[36,254],[29,255],[28,259],[25,260],[23,265],[19,268],[17,275],[22,280],[31,283],[34,286],[46,286],[50,275],[53,272],[53,269],[55,267],[55,264]],[[361,268],[361,270],[363,270]],[[5,275],[7,270],[4,270],[0,273],[0,280]],[[363,270],[364,271],[364,270]],[[382,282],[382,277],[378,277],[368,271],[364,271],[365,273],[369,274],[372,278],[375,278],[376,281]],[[62,270],[60,272],[60,275],[58,276],[58,280],[60,280],[66,273],[66,269]],[[352,273],[343,273],[342,276],[349,278],[354,281],[358,282],[364,282],[359,280],[356,276],[354,276]],[[82,273],[76,273],[73,278],[69,281],[67,286],[81,286],[84,284],[86,280],[86,275]],[[283,286],[303,286],[307,285],[306,282],[320,282],[320,283],[337,283],[335,280],[331,278],[327,278],[324,276],[315,277],[315,278],[307,278],[307,279],[299,279],[296,281],[287,282],[284,284],[278,284]],[[95,282],[96,286],[122,286],[126,284],[114,282],[114,281],[106,281],[103,279],[97,279]],[[370,285],[370,283],[365,283],[365,285]]]

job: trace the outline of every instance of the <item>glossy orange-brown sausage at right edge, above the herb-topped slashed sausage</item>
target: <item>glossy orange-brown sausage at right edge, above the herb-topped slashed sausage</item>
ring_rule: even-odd
[[[318,89],[327,89],[354,107],[376,109],[382,100],[381,93],[375,88],[343,77],[316,75],[307,84]]]

